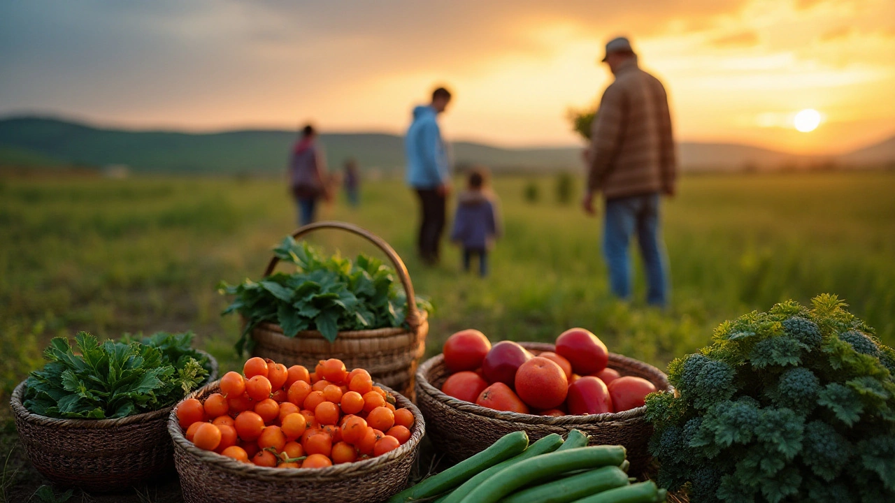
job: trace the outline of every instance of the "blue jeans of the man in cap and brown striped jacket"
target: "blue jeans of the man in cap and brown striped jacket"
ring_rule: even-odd
[[[631,296],[631,259],[627,245],[637,234],[646,273],[646,302],[668,303],[665,244],[659,226],[659,193],[606,200],[603,254],[609,265],[609,287],[622,299]]]

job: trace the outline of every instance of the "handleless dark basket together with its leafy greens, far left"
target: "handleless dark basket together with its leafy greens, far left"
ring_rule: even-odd
[[[55,337],[47,364],[13,391],[19,439],[52,482],[121,490],[174,467],[167,416],[183,396],[217,378],[217,362],[193,349],[192,333],[125,336],[75,347]]]

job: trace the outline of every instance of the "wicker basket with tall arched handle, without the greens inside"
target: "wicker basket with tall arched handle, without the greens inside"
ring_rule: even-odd
[[[303,226],[293,234],[298,239],[318,229],[339,229],[357,234],[385,252],[395,266],[407,295],[406,325],[408,328],[377,328],[339,332],[335,342],[329,342],[317,330],[299,332],[295,337],[283,335],[274,323],[261,323],[251,331],[253,356],[270,358],[278,363],[304,365],[313,370],[320,360],[338,358],[348,369],[366,369],[373,380],[413,397],[413,376],[425,351],[429,322],[425,311],[416,309],[413,284],[404,261],[394,249],[376,234],[345,222],[319,222]],[[277,257],[268,263],[264,276],[277,267]]]

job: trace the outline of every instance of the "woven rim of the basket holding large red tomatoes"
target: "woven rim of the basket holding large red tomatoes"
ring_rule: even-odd
[[[554,351],[556,349],[555,345],[550,343],[537,343],[537,342],[519,342],[519,345],[522,345],[525,349],[534,350],[539,353],[546,351]],[[555,425],[555,426],[574,426],[575,424],[596,424],[596,423],[606,423],[606,422],[621,422],[626,420],[631,420],[636,417],[643,416],[646,413],[646,405],[641,405],[639,407],[635,407],[633,409],[628,409],[626,411],[622,411],[620,413],[598,413],[598,414],[584,414],[584,415],[563,415],[563,416],[547,416],[547,415],[535,415],[529,413],[513,413],[507,411],[496,411],[494,409],[490,409],[488,407],[482,407],[482,405],[475,405],[471,402],[466,402],[465,400],[460,400],[458,398],[454,398],[453,396],[447,396],[442,393],[439,388],[433,386],[429,379],[426,379],[426,374],[429,373],[432,367],[438,365],[439,363],[444,362],[444,354],[437,354],[432,356],[429,360],[422,362],[420,367],[416,371],[416,385],[422,388],[422,392],[431,396],[432,398],[438,400],[439,402],[447,405],[451,408],[457,409],[464,413],[472,413],[479,416],[489,417],[493,419],[499,419],[503,421],[510,422],[522,422],[525,424],[545,424],[545,425]],[[640,360],[635,360],[634,358],[627,357],[623,354],[615,354],[609,353],[609,362],[624,362],[629,366],[640,367],[645,372],[652,373],[656,378],[659,378],[661,383],[664,383],[666,388],[660,389],[660,391],[673,391],[674,388],[668,384],[668,376],[665,375],[664,372],[659,369],[653,367],[649,363],[641,362]],[[660,388],[660,387],[657,387]],[[417,398],[419,399],[419,398]]]

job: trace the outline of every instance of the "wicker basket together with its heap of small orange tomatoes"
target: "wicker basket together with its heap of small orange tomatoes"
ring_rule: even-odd
[[[253,357],[187,396],[168,431],[187,502],[361,502],[404,488],[425,425],[363,369]]]

